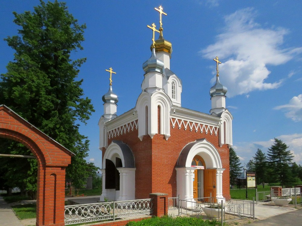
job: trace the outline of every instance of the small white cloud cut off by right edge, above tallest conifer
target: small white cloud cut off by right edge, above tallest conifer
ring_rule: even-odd
[[[302,94],[294,96],[288,104],[277,106],[274,109],[285,109],[287,118],[291,118],[295,122],[302,121]]]

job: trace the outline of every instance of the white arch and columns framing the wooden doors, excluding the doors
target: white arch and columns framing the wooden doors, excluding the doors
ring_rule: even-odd
[[[222,168],[220,154],[213,144],[206,139],[188,143],[179,155],[177,162],[177,194],[181,199],[193,199],[193,178],[196,167],[191,167],[195,155],[204,159],[207,169],[216,169],[216,198],[222,195]]]

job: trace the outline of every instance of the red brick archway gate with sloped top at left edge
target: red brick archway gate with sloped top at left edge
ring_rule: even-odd
[[[5,105],[0,105],[0,137],[24,144],[37,157],[36,225],[64,225],[65,168],[74,154]]]

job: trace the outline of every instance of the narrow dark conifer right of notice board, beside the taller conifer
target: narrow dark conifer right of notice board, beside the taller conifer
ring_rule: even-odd
[[[264,188],[264,182],[267,181],[267,158],[265,153],[261,149],[257,149],[255,157],[253,157],[255,162],[255,172],[257,176],[257,183],[262,183]]]

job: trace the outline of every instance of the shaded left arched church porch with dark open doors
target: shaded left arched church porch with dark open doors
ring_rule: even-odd
[[[110,201],[134,199],[136,168],[130,147],[120,140],[113,140],[105,151],[102,166],[101,201],[105,198]]]

